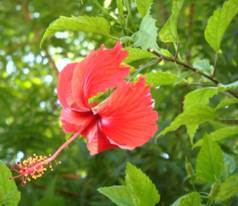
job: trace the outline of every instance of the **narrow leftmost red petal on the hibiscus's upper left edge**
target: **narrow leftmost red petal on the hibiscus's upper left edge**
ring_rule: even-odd
[[[68,64],[59,73],[57,94],[58,94],[59,101],[63,107],[68,107],[70,98],[72,98],[71,82],[73,77],[73,71],[76,65],[77,63]]]

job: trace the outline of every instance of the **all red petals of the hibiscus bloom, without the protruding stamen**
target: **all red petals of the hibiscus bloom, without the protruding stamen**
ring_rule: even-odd
[[[122,61],[127,55],[120,43],[112,49],[101,47],[59,74],[63,129],[84,136],[92,155],[116,147],[134,149],[157,130],[158,116],[144,79],[125,81],[129,67]],[[107,89],[113,92],[106,100],[89,103],[91,97]]]

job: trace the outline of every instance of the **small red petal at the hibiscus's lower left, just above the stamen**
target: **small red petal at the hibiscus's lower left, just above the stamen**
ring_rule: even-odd
[[[82,131],[94,119],[92,112],[75,112],[69,108],[63,108],[60,115],[62,127],[66,133]]]

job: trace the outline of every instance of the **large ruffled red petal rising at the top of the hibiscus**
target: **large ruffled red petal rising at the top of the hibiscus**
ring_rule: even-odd
[[[72,79],[73,99],[85,111],[90,108],[88,99],[99,92],[105,92],[120,84],[129,73],[129,67],[122,66],[127,52],[117,43],[112,49],[101,47],[93,51],[74,70]]]

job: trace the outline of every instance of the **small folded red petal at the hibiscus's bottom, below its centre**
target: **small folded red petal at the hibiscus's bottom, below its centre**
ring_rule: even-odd
[[[87,130],[82,133],[82,135],[86,136],[88,140],[87,148],[91,155],[117,147],[108,141],[105,135],[100,131],[96,121],[91,124]]]

